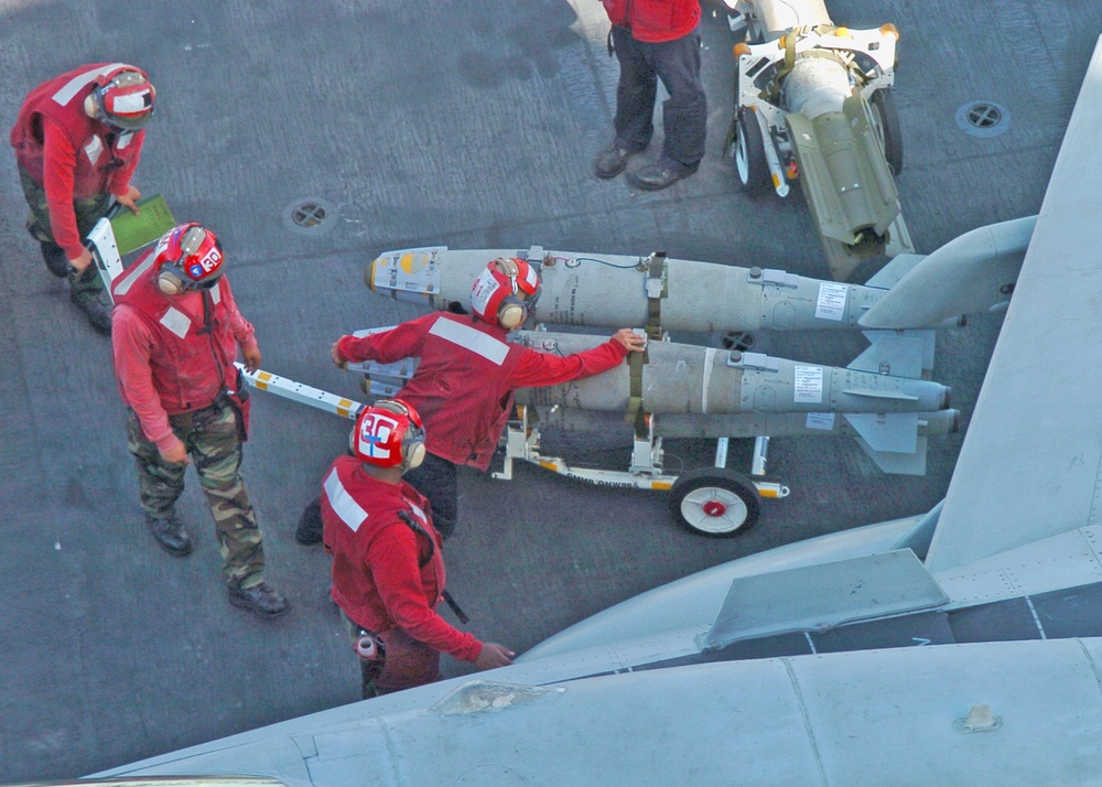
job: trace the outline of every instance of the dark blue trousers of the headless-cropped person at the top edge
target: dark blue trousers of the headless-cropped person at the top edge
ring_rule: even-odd
[[[658,80],[670,97],[662,103],[666,139],[659,165],[680,175],[696,171],[704,158],[707,99],[700,82],[700,34],[650,44],[636,41],[627,28],[613,26],[620,65],[616,87],[616,145],[638,152],[655,132]]]

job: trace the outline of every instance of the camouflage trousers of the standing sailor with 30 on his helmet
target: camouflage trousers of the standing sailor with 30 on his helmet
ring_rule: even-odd
[[[170,416],[169,422],[186,446],[210,506],[227,584],[251,587],[260,583],[264,549],[241,479],[237,412],[222,402]],[[184,492],[186,465],[170,464],[161,459],[156,445],[142,434],[133,410],[127,419],[127,448],[138,466],[142,510],[152,517],[165,516]]]

